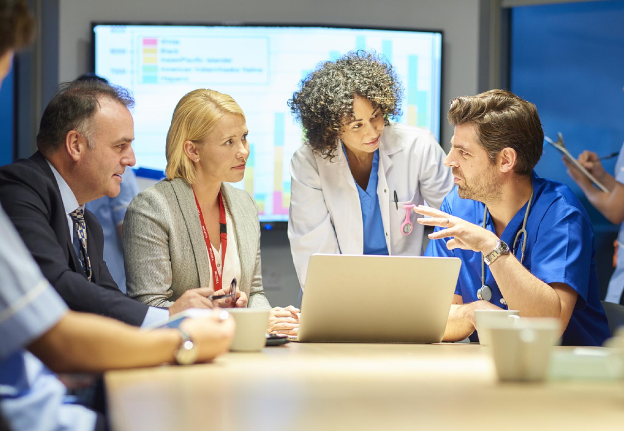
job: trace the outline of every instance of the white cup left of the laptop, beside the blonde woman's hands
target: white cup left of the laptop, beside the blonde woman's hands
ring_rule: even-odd
[[[225,310],[232,315],[236,322],[236,330],[230,350],[233,352],[257,352],[265,347],[269,310],[247,308]]]

